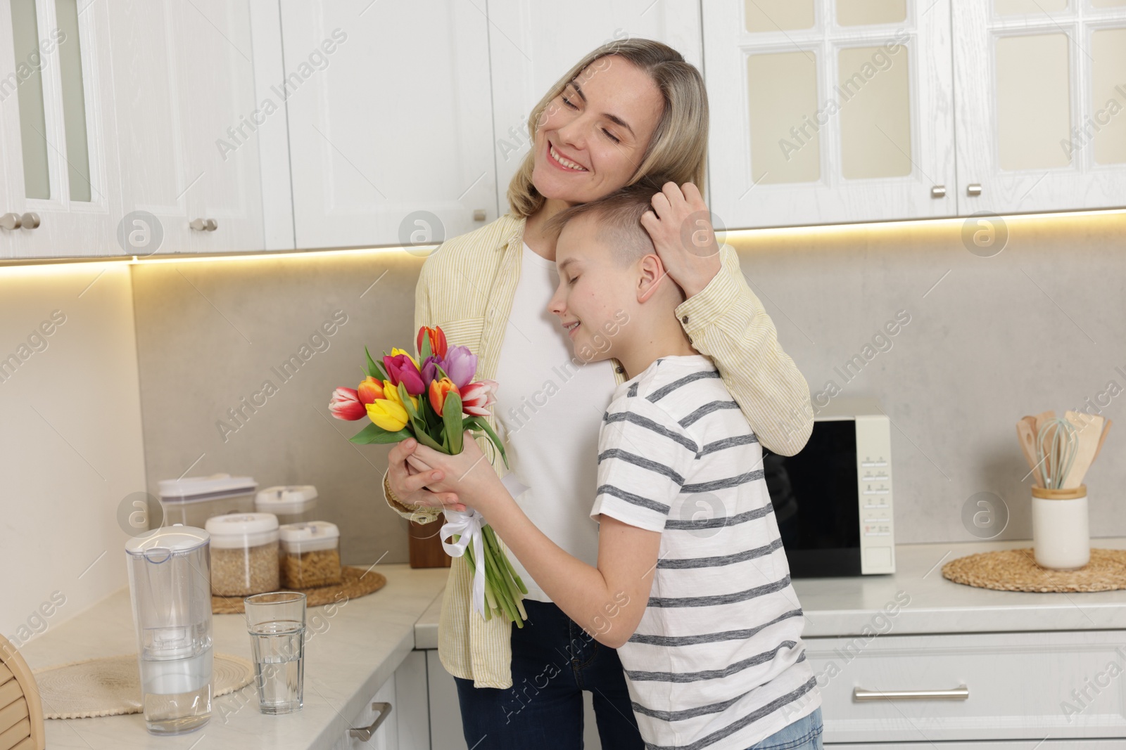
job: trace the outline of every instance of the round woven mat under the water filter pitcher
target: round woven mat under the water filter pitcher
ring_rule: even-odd
[[[213,697],[233,693],[254,678],[245,659],[216,653],[212,667]],[[35,672],[44,719],[91,719],[141,713],[137,656],[87,659]]]

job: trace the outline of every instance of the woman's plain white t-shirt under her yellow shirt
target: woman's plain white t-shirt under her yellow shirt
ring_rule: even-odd
[[[524,245],[520,280],[497,363],[498,435],[511,472],[504,484],[536,526],[569,554],[598,564],[598,524],[588,516],[598,470],[598,428],[616,387],[610,360],[583,363],[547,309],[555,261]],[[527,598],[551,602],[516,555]]]

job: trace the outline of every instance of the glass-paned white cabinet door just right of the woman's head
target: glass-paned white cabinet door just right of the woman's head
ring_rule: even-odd
[[[703,4],[729,228],[957,213],[949,0]]]

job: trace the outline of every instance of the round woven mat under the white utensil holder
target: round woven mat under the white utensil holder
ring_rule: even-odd
[[[955,584],[1002,591],[1110,591],[1126,588],[1126,550],[1091,550],[1079,570],[1049,570],[1036,564],[1033,548],[968,554],[942,566]]]

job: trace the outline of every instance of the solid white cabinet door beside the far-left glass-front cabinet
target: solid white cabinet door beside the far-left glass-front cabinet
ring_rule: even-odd
[[[108,13],[124,204],[115,254],[261,250],[256,130],[285,114],[256,103],[248,0],[118,0]]]

